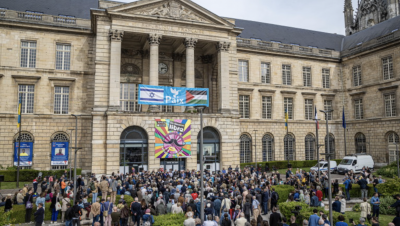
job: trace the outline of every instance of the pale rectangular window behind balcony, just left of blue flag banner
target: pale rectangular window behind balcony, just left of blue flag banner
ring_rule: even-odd
[[[133,83],[120,84],[120,107],[121,111],[140,112],[138,104],[138,85]]]

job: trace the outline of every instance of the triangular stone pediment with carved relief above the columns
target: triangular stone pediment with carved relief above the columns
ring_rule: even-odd
[[[107,11],[123,15],[166,18],[175,21],[181,20],[234,27],[234,25],[227,20],[190,0],[140,0],[108,8]]]

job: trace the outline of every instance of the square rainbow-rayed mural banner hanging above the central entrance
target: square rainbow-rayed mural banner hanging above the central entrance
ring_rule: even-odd
[[[191,120],[156,119],[155,121],[155,157],[189,158],[191,151]]]

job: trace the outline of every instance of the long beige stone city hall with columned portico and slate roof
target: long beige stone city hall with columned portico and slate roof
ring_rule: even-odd
[[[361,0],[356,13],[344,3],[346,36],[223,18],[190,0],[2,0],[0,165],[14,164],[21,97],[26,168],[69,167],[52,164],[52,144],[69,144],[73,164],[76,142],[86,172],[198,169],[199,113],[139,105],[139,84],[209,89],[202,151],[211,170],[315,160],[317,139],[335,159],[394,161],[399,1]],[[318,113],[318,137],[315,108],[333,110]],[[156,119],[192,121],[190,158],[155,157]]]

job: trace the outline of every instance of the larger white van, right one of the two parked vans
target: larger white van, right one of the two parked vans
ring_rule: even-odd
[[[369,167],[371,170],[374,169],[375,163],[372,156],[366,154],[348,155],[340,162],[338,173],[345,174],[350,170],[353,170],[354,173],[359,173],[363,167]]]

